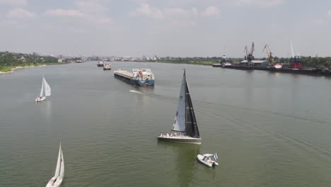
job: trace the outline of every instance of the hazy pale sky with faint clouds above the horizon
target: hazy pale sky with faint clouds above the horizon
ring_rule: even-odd
[[[289,40],[331,56],[331,0],[0,0],[0,51],[289,57]]]

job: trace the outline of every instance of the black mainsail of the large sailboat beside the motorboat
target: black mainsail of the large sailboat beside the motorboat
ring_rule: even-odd
[[[199,129],[197,127],[197,120],[195,118],[194,109],[192,105],[192,100],[190,96],[190,91],[187,87],[185,70],[184,70],[184,77],[185,77],[185,131],[186,135],[190,137],[200,137]]]

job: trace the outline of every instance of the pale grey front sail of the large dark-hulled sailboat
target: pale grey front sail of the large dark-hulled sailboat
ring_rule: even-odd
[[[180,97],[178,99],[178,107],[173,123],[173,131],[185,132],[185,73],[182,76],[182,84],[180,86]]]

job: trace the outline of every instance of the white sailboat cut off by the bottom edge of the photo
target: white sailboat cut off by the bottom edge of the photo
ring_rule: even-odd
[[[59,146],[59,156],[57,157],[57,168],[55,169],[55,174],[48,181],[46,187],[58,187],[61,185],[64,177],[64,159],[63,159],[63,153],[61,148],[61,143]]]

